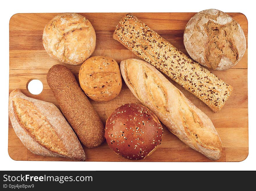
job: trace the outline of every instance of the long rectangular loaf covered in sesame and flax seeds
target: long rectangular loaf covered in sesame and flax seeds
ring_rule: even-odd
[[[214,112],[220,111],[230,96],[231,85],[191,60],[130,13],[119,22],[113,38],[194,94]]]

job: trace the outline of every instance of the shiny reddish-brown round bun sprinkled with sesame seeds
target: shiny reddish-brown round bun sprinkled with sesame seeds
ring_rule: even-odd
[[[161,144],[162,136],[163,128],[157,117],[140,104],[124,104],[106,121],[106,141],[124,158],[144,159]]]

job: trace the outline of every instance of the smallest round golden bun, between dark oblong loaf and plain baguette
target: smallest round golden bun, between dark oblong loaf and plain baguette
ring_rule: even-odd
[[[79,83],[94,101],[109,101],[118,96],[122,77],[118,63],[108,56],[93,56],[79,70]]]

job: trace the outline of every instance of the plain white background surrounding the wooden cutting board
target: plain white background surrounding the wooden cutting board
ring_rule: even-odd
[[[3,4],[4,2],[4,4]],[[1,108],[0,108],[0,170],[255,170],[255,6],[249,1],[3,1],[1,3]],[[253,2],[253,1],[251,1]],[[14,161],[8,155],[8,81],[9,81],[9,19],[15,13],[61,12],[199,12],[215,8],[223,12],[240,12],[248,19],[248,101],[249,155],[242,162],[218,163],[152,163],[152,162],[44,162]]]

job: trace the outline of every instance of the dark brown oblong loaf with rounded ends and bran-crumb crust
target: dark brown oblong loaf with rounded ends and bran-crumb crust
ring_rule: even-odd
[[[88,148],[99,146],[104,141],[104,126],[70,69],[54,65],[47,83],[79,140]]]

